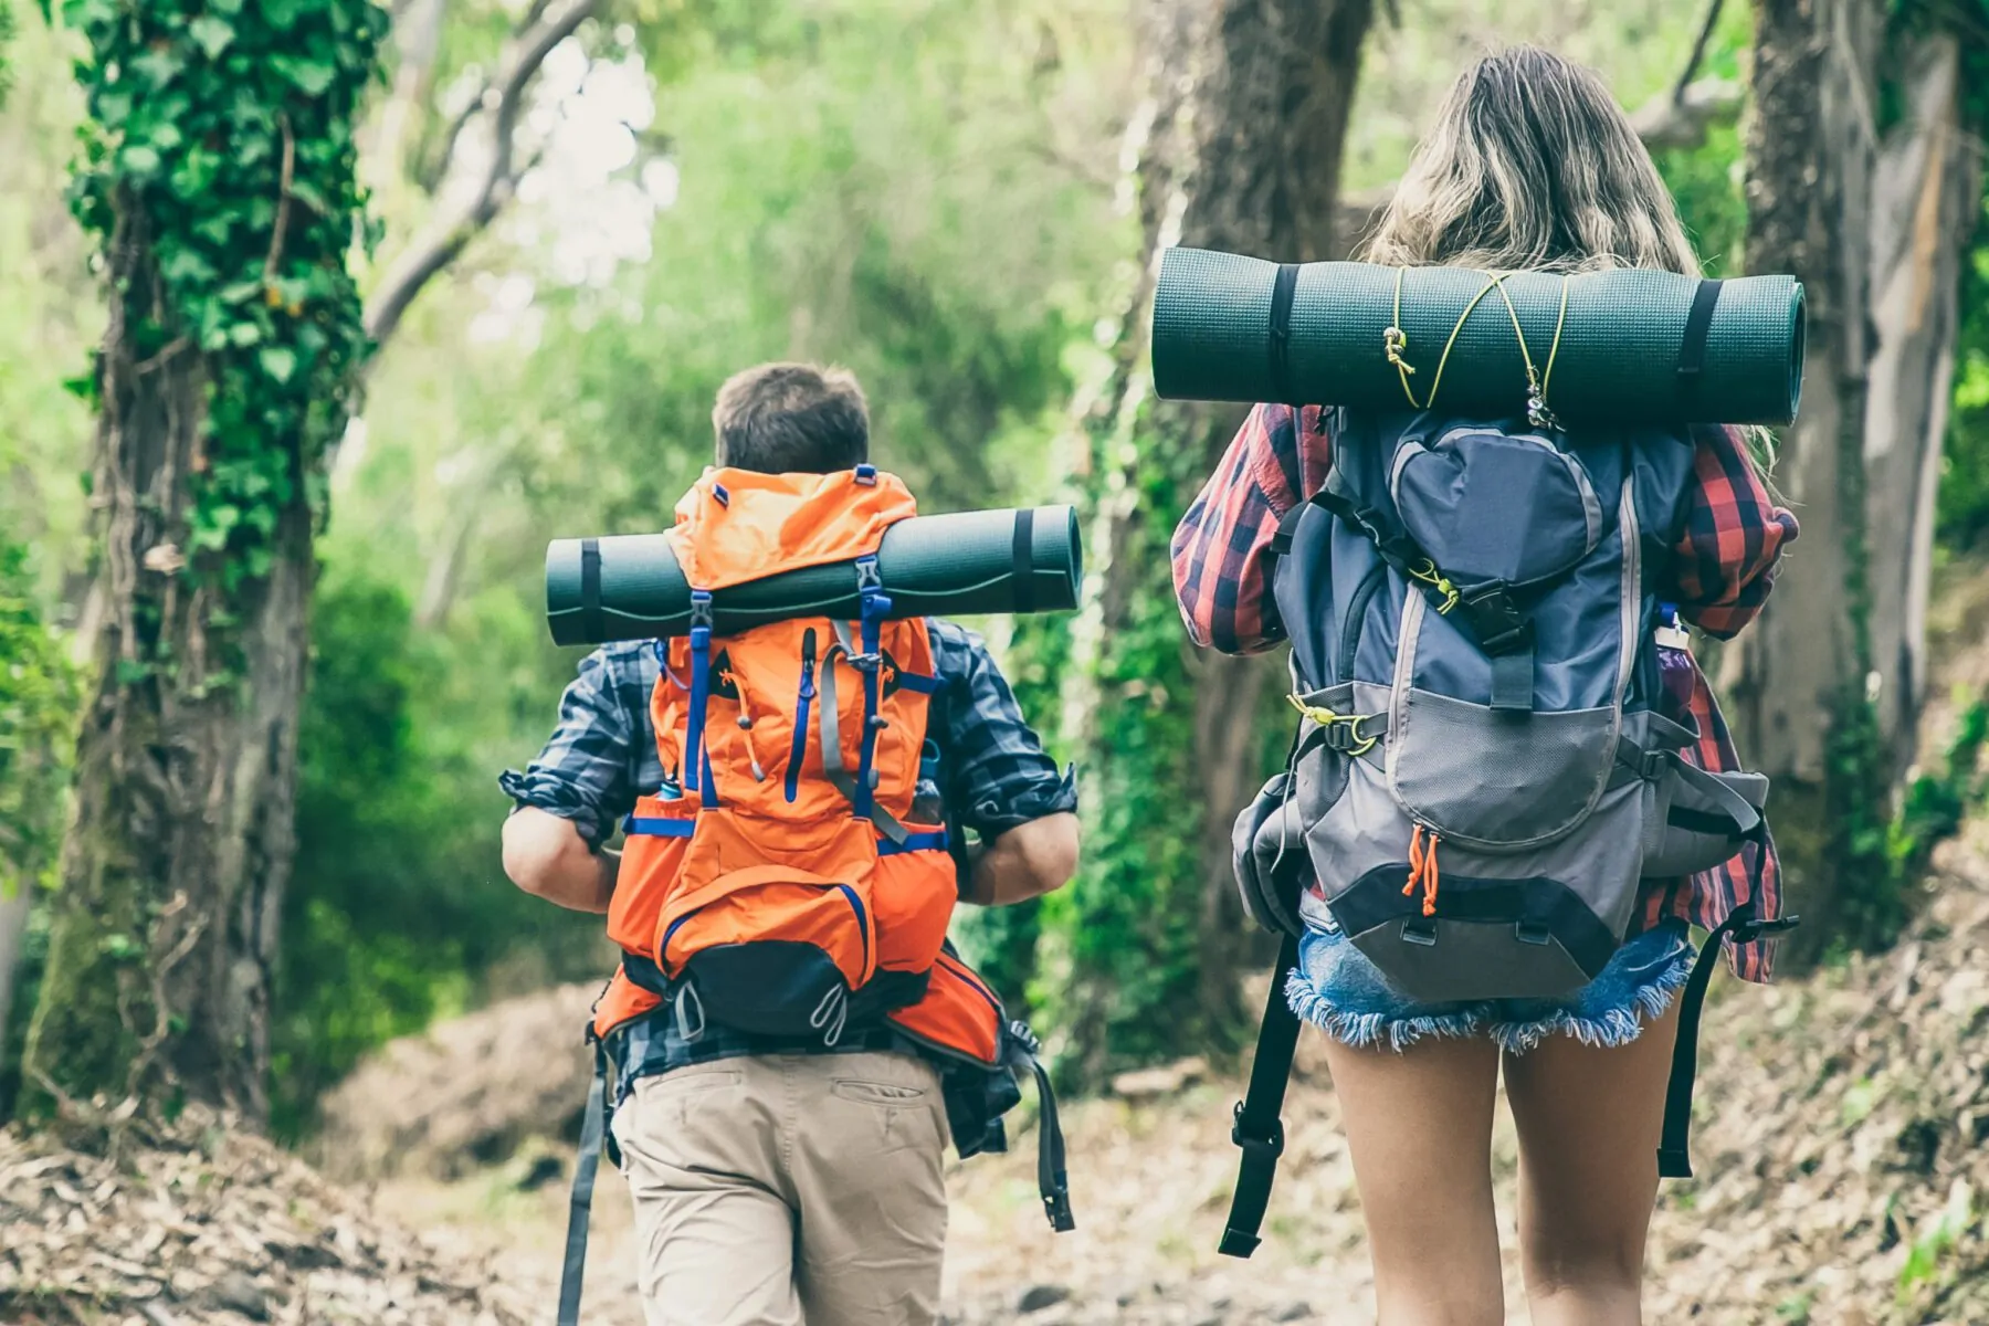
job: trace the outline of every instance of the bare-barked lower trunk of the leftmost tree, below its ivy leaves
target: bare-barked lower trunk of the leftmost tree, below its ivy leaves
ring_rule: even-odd
[[[127,209],[113,288],[159,288],[147,241]],[[157,296],[113,300],[99,360],[103,624],[28,1074],[111,1101],[157,1079],[261,1115],[312,582],[306,483],[294,469],[269,577],[233,594],[181,577],[207,368],[189,348],[139,360],[133,314],[175,322]]]

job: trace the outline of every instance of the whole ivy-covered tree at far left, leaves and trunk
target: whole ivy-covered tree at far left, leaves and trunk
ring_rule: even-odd
[[[366,354],[374,0],[64,0],[101,250],[93,694],[30,1089],[265,1111],[322,457]]]

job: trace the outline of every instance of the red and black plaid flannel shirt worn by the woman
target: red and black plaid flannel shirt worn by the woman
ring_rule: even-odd
[[[1663,590],[1681,616],[1720,640],[1760,612],[1782,547],[1796,537],[1796,517],[1776,507],[1732,429],[1695,429],[1695,481],[1685,531],[1673,547]],[[1225,654],[1253,654],[1285,638],[1267,579],[1279,519],[1317,493],[1333,463],[1327,412],[1307,406],[1257,406],[1223,453],[1201,495],[1174,531],[1174,586],[1195,644]],[[1732,736],[1699,666],[1693,664],[1687,712],[1699,742],[1685,755],[1707,769],[1740,767]],[[1746,847],[1720,867],[1645,889],[1643,924],[1667,916],[1713,928],[1752,895],[1746,853],[1760,851],[1760,916],[1782,914],[1782,869],[1774,845]],[[1772,940],[1732,946],[1734,972],[1768,980]]]

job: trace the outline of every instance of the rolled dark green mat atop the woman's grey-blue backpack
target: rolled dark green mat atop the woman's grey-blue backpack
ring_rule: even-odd
[[[1396,326],[1398,284],[1408,374],[1390,362],[1384,336]],[[1492,278],[1470,268],[1281,266],[1170,249],[1154,292],[1154,390],[1170,400],[1518,415],[1528,406],[1518,314],[1545,404],[1567,425],[1796,417],[1804,308],[1794,276],[1623,268],[1512,272],[1500,286],[1510,310]]]

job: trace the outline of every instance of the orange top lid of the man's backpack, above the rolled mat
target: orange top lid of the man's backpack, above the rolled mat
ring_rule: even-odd
[[[710,467],[678,499],[668,537],[690,586],[714,590],[871,555],[913,515],[905,481],[875,465],[825,475]]]

